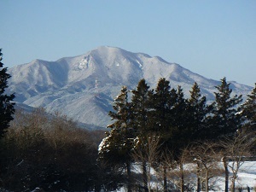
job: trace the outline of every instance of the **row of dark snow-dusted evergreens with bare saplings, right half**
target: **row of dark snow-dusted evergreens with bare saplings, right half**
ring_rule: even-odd
[[[225,78],[216,86],[211,104],[207,104],[206,96],[201,96],[197,83],[189,92],[189,98],[185,98],[181,86],[171,88],[164,78],[155,89],[150,89],[142,79],[136,90],[124,86],[114,99],[113,111],[109,113],[113,124],[108,125],[110,131],[100,145],[99,159],[110,167],[126,170],[123,184],[127,191],[189,190],[184,178],[185,163],[197,166],[193,188],[208,191],[212,172],[218,176],[220,160],[225,171],[225,191],[235,190],[236,166],[241,166],[242,156],[253,150],[255,153],[256,86],[243,104],[241,96],[232,95]],[[231,186],[230,158],[234,163]],[[141,166],[140,178],[131,172],[136,163]],[[161,189],[151,186],[151,177],[155,175],[150,173],[152,168],[160,174]],[[174,173],[170,176],[170,170],[179,170],[178,178],[171,179]]]

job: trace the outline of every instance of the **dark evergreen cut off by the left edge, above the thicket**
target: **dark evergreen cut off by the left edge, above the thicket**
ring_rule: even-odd
[[[5,89],[8,88],[8,79],[10,75],[7,73],[7,67],[3,67],[2,49],[0,49],[0,137],[9,127],[9,121],[13,119],[15,113],[15,103],[12,102],[15,94],[5,94]]]

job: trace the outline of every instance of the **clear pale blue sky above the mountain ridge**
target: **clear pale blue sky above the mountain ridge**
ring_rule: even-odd
[[[210,79],[256,82],[255,0],[2,0],[5,67],[108,45]]]

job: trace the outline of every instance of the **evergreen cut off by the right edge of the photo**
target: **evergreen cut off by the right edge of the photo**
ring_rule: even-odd
[[[251,93],[247,95],[247,100],[241,105],[241,111],[246,125],[256,130],[256,84]]]

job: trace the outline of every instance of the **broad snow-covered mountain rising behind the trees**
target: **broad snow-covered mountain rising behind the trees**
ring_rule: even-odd
[[[181,85],[189,96],[197,82],[202,94],[212,100],[214,86],[220,84],[158,56],[105,46],[58,61],[35,60],[12,67],[9,73],[9,91],[15,92],[16,102],[66,113],[74,120],[100,127],[110,122],[108,111],[122,85],[135,89],[140,79],[146,79],[154,88],[163,77],[170,80],[172,88]],[[247,85],[230,83],[237,95],[246,96],[252,90]]]

